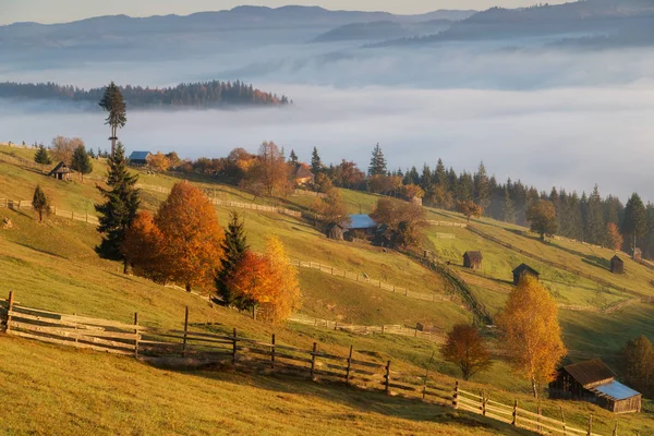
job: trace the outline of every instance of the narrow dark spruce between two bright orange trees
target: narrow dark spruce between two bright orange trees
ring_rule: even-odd
[[[225,257],[221,261],[222,265],[216,278],[218,296],[226,306],[230,304],[239,305],[235,301],[238,296],[233,295],[229,288],[229,280],[231,280],[237,265],[243,259],[249,250],[243,220],[239,218],[239,214],[235,211],[232,211],[230,217],[231,219],[225,232],[225,241],[222,241]]]

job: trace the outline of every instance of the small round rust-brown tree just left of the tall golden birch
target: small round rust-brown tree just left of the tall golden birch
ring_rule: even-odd
[[[484,344],[476,327],[468,324],[456,325],[447,334],[440,354],[447,362],[453,363],[461,370],[463,379],[479,372],[491,368],[491,350]]]

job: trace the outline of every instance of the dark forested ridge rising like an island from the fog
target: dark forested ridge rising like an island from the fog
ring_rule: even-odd
[[[213,108],[220,106],[257,105],[278,106],[291,101],[254,88],[240,81],[182,83],[174,87],[150,88],[142,86],[119,87],[125,102],[131,108],[194,107]],[[56,83],[0,83],[0,97],[23,99],[52,99],[60,101],[88,101],[96,104],[102,99],[105,88],[83,89],[72,85]]]

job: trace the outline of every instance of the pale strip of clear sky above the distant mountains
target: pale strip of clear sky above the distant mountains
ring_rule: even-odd
[[[562,3],[549,0],[549,3]],[[36,21],[61,23],[98,15],[128,14],[148,16],[185,15],[199,11],[219,11],[239,4],[280,7],[284,4],[320,5],[327,9],[421,13],[438,9],[488,9],[494,5],[518,8],[537,0],[0,0],[0,24]]]

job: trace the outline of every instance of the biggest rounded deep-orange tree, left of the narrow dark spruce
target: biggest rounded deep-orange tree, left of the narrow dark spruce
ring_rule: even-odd
[[[162,234],[164,258],[171,280],[194,286],[214,282],[223,256],[222,229],[209,199],[191,183],[172,186],[155,223]]]

